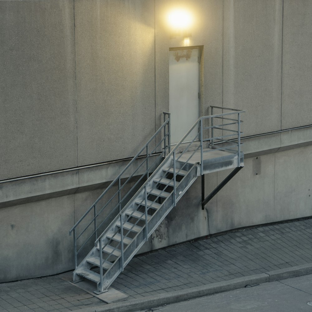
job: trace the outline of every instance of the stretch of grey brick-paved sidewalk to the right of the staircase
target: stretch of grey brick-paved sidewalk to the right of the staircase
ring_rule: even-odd
[[[312,219],[241,230],[137,256],[112,287],[131,298],[312,263]]]

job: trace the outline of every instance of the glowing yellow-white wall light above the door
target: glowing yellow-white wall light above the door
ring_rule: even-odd
[[[168,24],[170,26],[170,38],[191,36],[190,27],[193,18],[190,12],[185,9],[174,9],[168,13]]]

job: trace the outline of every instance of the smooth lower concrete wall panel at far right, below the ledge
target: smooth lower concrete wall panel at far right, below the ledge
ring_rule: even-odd
[[[312,215],[312,147],[275,155],[275,220]]]

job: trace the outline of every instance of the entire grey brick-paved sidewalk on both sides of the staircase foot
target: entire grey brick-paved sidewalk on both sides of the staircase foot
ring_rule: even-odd
[[[142,298],[312,263],[312,219],[256,227],[136,256],[112,287]],[[57,275],[0,284],[0,312],[63,312],[105,303]]]

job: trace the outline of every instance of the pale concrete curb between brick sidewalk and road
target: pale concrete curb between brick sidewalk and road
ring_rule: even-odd
[[[284,280],[291,277],[312,274],[312,263],[291,268],[270,271],[262,274],[251,276],[244,276],[233,280],[212,283],[192,287],[189,289],[172,291],[165,294],[144,297],[140,299],[126,300],[116,303],[111,303],[103,306],[92,308],[85,308],[75,310],[73,312],[131,312],[149,309],[151,307],[158,307],[168,305],[188,299],[194,299],[206,295],[213,295],[221,292],[243,288],[246,285],[257,285],[266,282],[274,282],[277,280]]]

